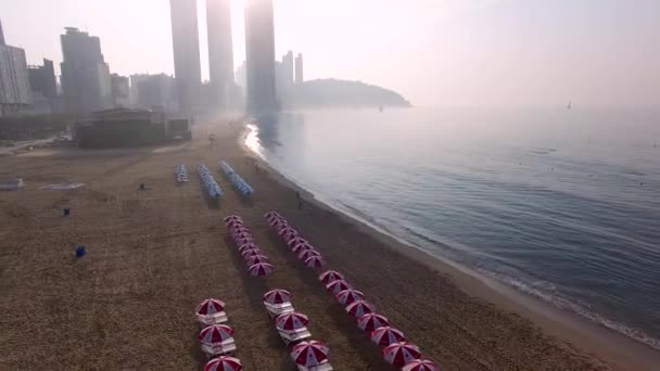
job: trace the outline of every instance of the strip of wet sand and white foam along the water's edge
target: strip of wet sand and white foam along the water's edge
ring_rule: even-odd
[[[578,314],[553,306],[541,298],[517,291],[515,287],[485,277],[469,267],[433,255],[378,226],[322,202],[314,193],[289,179],[252,151],[245,144],[249,135],[250,129],[244,126],[237,138],[237,143],[241,151],[265,169],[272,180],[300,192],[305,202],[334,214],[340,220],[357,227],[360,232],[368,234],[386,247],[448,277],[459,290],[468,295],[530,320],[546,334],[555,336],[572,347],[586,350],[607,361],[615,370],[650,371],[656,370],[657,364],[660,364],[660,351],[650,345],[637,342]]]

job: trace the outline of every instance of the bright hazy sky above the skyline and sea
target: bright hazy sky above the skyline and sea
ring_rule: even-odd
[[[199,0],[202,72],[205,0]],[[245,55],[232,1],[236,64]],[[418,105],[660,105],[660,0],[275,0],[278,55],[305,77],[392,88]],[[1,0],[8,43],[60,62],[59,35],[101,37],[118,74],[173,74],[168,0]]]

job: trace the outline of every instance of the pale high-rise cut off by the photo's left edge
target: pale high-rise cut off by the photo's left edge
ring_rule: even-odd
[[[33,103],[25,50],[4,43],[0,26],[0,115]]]

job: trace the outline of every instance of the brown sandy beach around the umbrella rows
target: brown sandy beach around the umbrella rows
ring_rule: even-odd
[[[263,304],[293,293],[337,370],[395,370],[275,234],[276,209],[364,291],[377,311],[445,370],[652,370],[657,351],[431,258],[340,215],[254,158],[241,125],[200,125],[192,143],[162,149],[37,150],[0,157],[0,178],[26,188],[0,193],[0,369],[200,370],[193,309],[227,303],[245,370],[293,370]],[[208,145],[213,132],[217,145]],[[256,190],[250,200],[217,171],[228,162]],[[186,164],[190,182],[174,180]],[[204,197],[204,163],[226,191]],[[80,182],[72,191],[39,190]],[[147,184],[140,191],[139,184]],[[300,191],[300,190],[299,190]],[[62,217],[62,208],[72,215]],[[252,278],[221,219],[238,214],[276,272]],[[87,255],[75,258],[77,245]]]

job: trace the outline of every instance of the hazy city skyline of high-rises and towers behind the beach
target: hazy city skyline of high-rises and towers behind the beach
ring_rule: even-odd
[[[0,116],[62,113],[89,117],[115,107],[192,116],[246,108],[275,111],[278,94],[303,81],[303,56],[275,60],[272,0],[248,0],[245,62],[234,74],[230,0],[206,0],[210,80],[202,81],[196,0],[169,0],[175,76],[111,74],[101,40],[66,27],[58,80],[52,61],[28,66],[5,43],[0,23]]]

